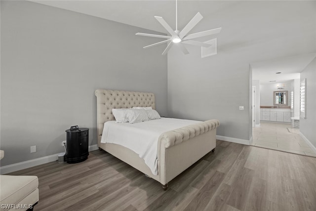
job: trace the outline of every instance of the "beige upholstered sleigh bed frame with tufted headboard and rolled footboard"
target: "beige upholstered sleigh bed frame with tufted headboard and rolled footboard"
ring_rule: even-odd
[[[114,143],[101,143],[104,123],[115,120],[113,108],[152,107],[155,95],[150,92],[95,90],[97,97],[97,134],[98,147],[138,169],[162,184],[163,190],[168,182],[196,163],[200,158],[214,151],[216,147],[216,128],[218,120],[199,122],[178,129],[163,132],[158,137],[157,167],[158,174],[145,164],[134,151]]]

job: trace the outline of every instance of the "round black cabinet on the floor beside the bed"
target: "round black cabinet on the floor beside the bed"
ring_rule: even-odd
[[[67,129],[66,161],[69,164],[87,160],[89,155],[89,128]]]

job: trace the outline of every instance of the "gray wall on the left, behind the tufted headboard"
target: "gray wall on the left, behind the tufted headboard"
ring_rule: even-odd
[[[1,166],[64,151],[70,126],[96,144],[97,88],[149,91],[167,115],[165,45],[151,31],[29,1],[1,0]],[[37,146],[30,153],[30,146]]]

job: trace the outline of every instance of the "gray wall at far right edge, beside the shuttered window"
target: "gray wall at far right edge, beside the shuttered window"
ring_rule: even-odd
[[[316,147],[316,58],[301,72],[306,78],[306,119],[300,118],[300,132]]]

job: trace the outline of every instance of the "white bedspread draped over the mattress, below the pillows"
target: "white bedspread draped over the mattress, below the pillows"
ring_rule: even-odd
[[[158,175],[157,145],[161,133],[199,123],[194,120],[161,118],[141,123],[104,123],[101,143],[115,143],[133,150],[145,160],[145,164]]]

